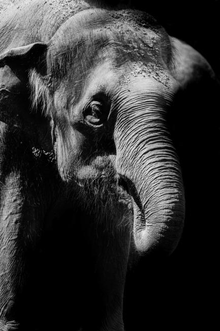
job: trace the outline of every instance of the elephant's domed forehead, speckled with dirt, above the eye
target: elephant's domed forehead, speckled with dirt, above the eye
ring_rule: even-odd
[[[77,99],[88,77],[95,85],[98,71],[98,80],[113,72],[119,84],[142,75],[168,86],[166,66],[172,51],[166,38],[160,25],[144,13],[85,10],[69,18],[51,40],[48,68],[58,85],[60,79],[65,82],[70,95],[77,91]]]

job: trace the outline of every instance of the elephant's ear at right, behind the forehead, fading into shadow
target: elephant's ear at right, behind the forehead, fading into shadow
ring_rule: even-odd
[[[215,74],[207,60],[192,46],[171,37],[173,48],[172,75],[182,88],[198,84],[201,81],[216,80]]]

